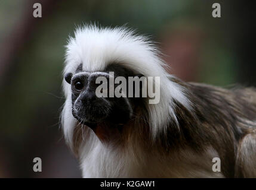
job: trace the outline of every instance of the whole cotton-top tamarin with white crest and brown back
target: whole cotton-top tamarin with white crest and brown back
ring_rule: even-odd
[[[87,25],[70,37],[61,124],[82,176],[256,177],[256,90],[186,83],[169,75],[158,55],[147,37],[125,27]],[[124,96],[98,97],[100,77],[106,83],[122,77],[126,87],[107,84],[100,93],[118,88]],[[135,89],[128,88],[129,77],[146,78],[137,95],[159,88],[159,101],[125,96]]]

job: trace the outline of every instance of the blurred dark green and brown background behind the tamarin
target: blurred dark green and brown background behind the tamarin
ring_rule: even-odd
[[[42,4],[42,18],[33,4]],[[221,18],[212,17],[212,4]],[[252,1],[0,1],[0,177],[80,178],[59,115],[64,45],[76,25],[127,26],[156,40],[185,81],[256,85]],[[33,158],[42,172],[33,172]]]

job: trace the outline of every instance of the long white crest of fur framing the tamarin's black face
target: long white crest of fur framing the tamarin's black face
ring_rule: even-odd
[[[164,62],[158,56],[158,49],[147,37],[138,36],[125,27],[110,29],[89,25],[76,29],[75,37],[70,37],[66,48],[64,74],[75,73],[80,64],[85,71],[103,71],[108,64],[115,62],[124,64],[145,77],[161,78],[160,102],[148,105],[152,137],[155,137],[159,131],[165,131],[170,117],[177,121],[172,109],[174,99],[187,109],[190,108],[183,89],[168,79],[168,74],[162,67]],[[67,142],[72,143],[75,118],[71,113],[70,84],[63,81],[63,89],[66,96],[63,130]]]

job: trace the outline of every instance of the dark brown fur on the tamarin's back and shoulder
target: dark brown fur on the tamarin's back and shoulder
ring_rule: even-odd
[[[238,157],[244,156],[239,147],[241,142],[244,143],[242,140],[246,135],[255,134],[256,131],[255,88],[224,89],[175,80],[187,88],[187,97],[192,102],[193,111],[189,112],[182,105],[175,104],[180,132],[174,135],[174,124],[170,125],[170,149],[183,145],[195,151],[202,151],[210,145],[220,156],[221,172],[224,176],[232,178],[238,176],[235,173],[243,173]],[[253,142],[256,141],[252,138],[255,138],[255,135],[251,135],[251,139],[247,140],[251,144],[243,144],[242,147],[249,146],[255,150],[256,144]],[[256,160],[256,157],[254,159]]]

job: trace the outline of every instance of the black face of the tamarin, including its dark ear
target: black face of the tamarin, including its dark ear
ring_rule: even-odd
[[[110,72],[113,72],[113,75],[110,75]],[[111,80],[115,81],[116,77],[121,76],[127,79],[126,89],[122,89],[127,95],[128,77],[134,77],[134,73],[122,66],[108,66],[103,72],[79,71],[78,68],[76,74],[66,74],[65,80],[71,84],[72,89],[73,116],[90,128],[95,128],[97,124],[126,124],[131,119],[139,98],[116,97],[115,90],[119,84],[113,84]],[[102,78],[105,80],[101,81]]]

